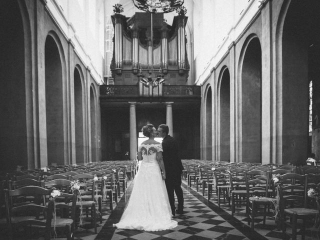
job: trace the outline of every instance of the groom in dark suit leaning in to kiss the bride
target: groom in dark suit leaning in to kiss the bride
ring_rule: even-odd
[[[165,124],[158,126],[158,136],[162,137],[162,157],[166,172],[165,186],[168,192],[172,215],[175,212],[183,214],[183,193],[181,189],[182,163],[179,157],[179,146],[177,141],[170,136],[169,127]],[[175,211],[174,191],[178,199],[178,208]]]

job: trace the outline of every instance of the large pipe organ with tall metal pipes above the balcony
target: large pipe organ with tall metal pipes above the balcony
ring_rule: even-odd
[[[185,15],[174,16],[172,25],[166,23],[163,13],[136,12],[131,17],[114,14],[111,18],[114,38],[110,69],[115,84],[138,84],[140,69],[155,76],[161,69],[164,84],[186,83],[189,64]]]

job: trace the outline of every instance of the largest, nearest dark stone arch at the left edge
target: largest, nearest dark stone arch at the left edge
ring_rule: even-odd
[[[34,167],[30,23],[24,2],[0,1],[1,168]],[[30,128],[31,127],[31,128]],[[17,150],[18,147],[18,150]]]

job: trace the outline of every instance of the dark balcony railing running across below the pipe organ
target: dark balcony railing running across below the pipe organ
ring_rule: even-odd
[[[199,97],[201,87],[195,85],[100,85],[100,96],[106,97]]]

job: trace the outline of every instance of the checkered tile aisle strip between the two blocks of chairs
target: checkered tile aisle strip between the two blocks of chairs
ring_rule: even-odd
[[[270,237],[266,238],[256,231],[250,231],[247,225],[212,202],[208,203],[206,198],[188,188],[185,182],[182,183],[184,214],[174,217],[178,221],[177,227],[153,232],[113,228],[112,223],[118,222],[120,219],[133,184],[134,181],[130,184],[126,194],[123,195],[95,239],[272,239]]]

